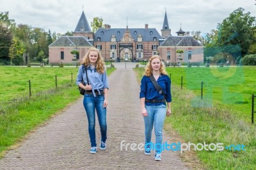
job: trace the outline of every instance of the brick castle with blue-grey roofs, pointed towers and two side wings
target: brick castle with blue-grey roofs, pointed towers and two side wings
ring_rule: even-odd
[[[170,63],[176,63],[178,58],[182,58],[184,63],[202,63],[204,46],[189,36],[189,32],[182,31],[181,27],[176,33],[177,36],[171,35],[165,12],[161,35],[148,24],[144,28],[111,28],[109,24],[104,24],[104,27],[93,34],[82,12],[73,36],[61,36],[49,45],[49,62],[81,62],[88,49],[93,46],[100,50],[104,60],[133,61],[159,54],[164,61]],[[74,56],[70,53],[72,50],[77,50],[79,54]],[[177,50],[183,50],[182,55],[177,54]]]

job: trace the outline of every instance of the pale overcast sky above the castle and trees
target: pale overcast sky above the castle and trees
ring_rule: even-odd
[[[9,12],[17,24],[52,32],[74,31],[84,10],[88,23],[102,17],[111,28],[143,28],[148,24],[161,34],[166,10],[172,35],[179,31],[209,33],[237,8],[256,17],[255,0],[0,0],[0,12]]]

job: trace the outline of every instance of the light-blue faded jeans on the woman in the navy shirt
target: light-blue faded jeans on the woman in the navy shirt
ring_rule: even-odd
[[[163,125],[166,115],[166,105],[145,105],[145,109],[148,112],[148,116],[144,117],[145,123],[145,144],[151,143],[152,129],[154,125],[156,135],[156,148],[157,152],[162,151],[163,140]]]

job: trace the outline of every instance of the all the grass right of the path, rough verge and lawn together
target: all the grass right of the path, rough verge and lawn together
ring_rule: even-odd
[[[143,68],[134,70],[140,80]],[[222,143],[222,151],[195,151],[205,169],[256,169],[256,128],[250,121],[256,67],[166,70],[169,75],[172,73],[173,100],[172,115],[166,118],[164,129],[171,141],[170,131],[174,129],[183,143],[212,143],[211,146]],[[245,151],[232,144],[243,144]],[[226,146],[230,146],[230,150]],[[189,151],[182,154],[189,155]]]

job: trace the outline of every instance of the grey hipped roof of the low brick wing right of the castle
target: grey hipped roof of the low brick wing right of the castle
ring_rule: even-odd
[[[160,46],[184,46],[184,47],[204,47],[192,36],[169,36]]]

